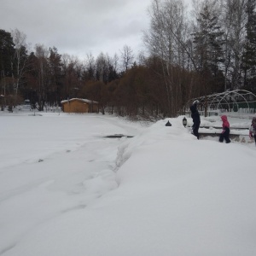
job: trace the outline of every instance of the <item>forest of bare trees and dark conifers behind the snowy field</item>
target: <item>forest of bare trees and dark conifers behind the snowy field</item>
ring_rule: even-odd
[[[124,45],[84,61],[57,45],[29,50],[25,32],[0,28],[1,110],[29,100],[44,111],[78,97],[98,102],[102,113],[149,119],[176,117],[199,96],[256,93],[255,7],[256,0],[193,0],[192,9],[153,0],[145,50],[134,55]]]

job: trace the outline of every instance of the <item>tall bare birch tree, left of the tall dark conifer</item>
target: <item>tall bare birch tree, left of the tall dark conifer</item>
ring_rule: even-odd
[[[149,9],[150,28],[148,32],[144,32],[144,44],[148,47],[150,55],[158,57],[161,61],[160,75],[165,81],[166,102],[171,116],[177,113],[178,102],[182,101],[181,80],[174,81],[173,68],[185,67],[184,56],[189,55],[185,45],[188,31],[184,11],[182,0],[154,0]]]

